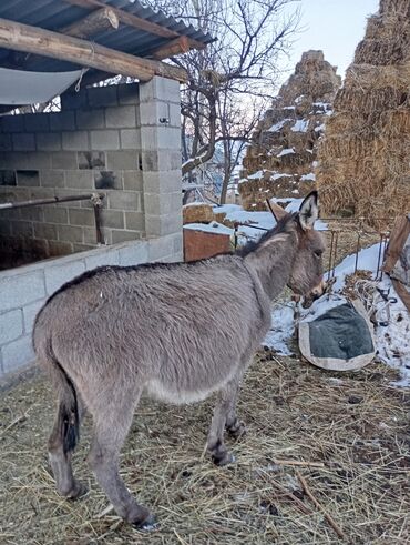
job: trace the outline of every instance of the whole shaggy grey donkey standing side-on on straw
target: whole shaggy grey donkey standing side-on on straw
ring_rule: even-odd
[[[102,266],[49,299],[33,342],[59,397],[49,456],[62,495],[85,492],[71,468],[84,407],[93,417],[89,461],[100,485],[125,521],[152,524],[119,474],[120,450],[143,393],[180,404],[218,391],[207,450],[218,465],[233,461],[224,430],[244,432],[235,410],[238,386],[270,327],[270,303],[286,285],[306,294],[322,277],[324,242],[312,229],[317,193],[298,213],[276,210],[275,229],[242,253]]]

